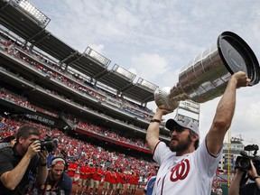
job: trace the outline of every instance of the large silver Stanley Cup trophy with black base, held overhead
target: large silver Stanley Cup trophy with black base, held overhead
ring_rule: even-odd
[[[259,82],[260,68],[255,53],[234,32],[222,32],[217,44],[203,51],[181,69],[179,82],[172,88],[158,88],[154,92],[157,107],[173,110],[180,101],[191,99],[207,102],[224,93],[231,75],[246,72],[250,85]]]

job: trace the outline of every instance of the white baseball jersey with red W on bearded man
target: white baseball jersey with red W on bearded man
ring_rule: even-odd
[[[153,195],[209,195],[221,153],[210,155],[203,140],[193,153],[176,156],[159,142],[153,153],[154,161],[160,164]]]

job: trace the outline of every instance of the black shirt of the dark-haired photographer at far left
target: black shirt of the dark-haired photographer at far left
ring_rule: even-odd
[[[15,147],[6,147],[0,150],[0,177],[5,172],[9,172],[22,160],[23,156],[19,155]],[[0,195],[16,195],[24,194],[26,186],[29,183],[29,172],[36,172],[37,164],[39,162],[39,156],[34,155],[31,162],[23,175],[22,181],[16,186],[14,190],[8,190],[5,188],[3,183],[0,181]]]

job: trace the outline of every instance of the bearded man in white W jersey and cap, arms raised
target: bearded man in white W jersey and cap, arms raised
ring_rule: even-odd
[[[199,146],[199,127],[189,117],[169,119],[166,127],[172,137],[169,146],[159,140],[163,115],[171,111],[157,108],[146,132],[146,142],[153,160],[160,165],[153,187],[154,194],[208,195],[218,168],[224,137],[231,125],[236,106],[237,88],[250,82],[238,71],[228,80],[209,132]]]

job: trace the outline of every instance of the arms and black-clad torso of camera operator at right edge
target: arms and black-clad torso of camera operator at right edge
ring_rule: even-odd
[[[235,177],[229,187],[228,195],[247,195],[247,194],[259,195],[260,194],[260,176],[257,174],[255,165],[252,162],[252,160],[250,160],[250,164],[251,164],[251,169],[247,170],[246,172],[249,175],[249,178],[255,182],[247,183],[245,185],[242,184],[240,186],[240,183],[243,177],[245,176],[246,172],[240,168],[237,168]],[[242,183],[244,183],[244,181],[242,181]]]

